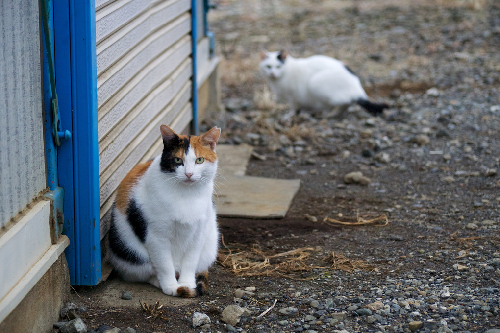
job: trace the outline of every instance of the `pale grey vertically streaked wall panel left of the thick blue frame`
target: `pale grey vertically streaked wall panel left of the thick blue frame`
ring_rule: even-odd
[[[38,1],[0,1],[0,227],[46,187]]]

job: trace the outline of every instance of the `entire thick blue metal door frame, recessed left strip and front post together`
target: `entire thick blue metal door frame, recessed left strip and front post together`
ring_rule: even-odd
[[[53,0],[52,9],[59,114],[71,132],[57,149],[65,256],[70,283],[94,286],[101,280],[95,1]]]

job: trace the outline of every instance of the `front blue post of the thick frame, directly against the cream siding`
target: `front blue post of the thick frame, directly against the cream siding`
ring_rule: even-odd
[[[75,284],[101,280],[95,1],[69,0]]]

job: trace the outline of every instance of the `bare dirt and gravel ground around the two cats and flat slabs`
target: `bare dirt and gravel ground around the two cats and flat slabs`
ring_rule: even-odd
[[[225,111],[206,127],[222,127],[221,142],[255,147],[247,174],[300,178],[301,189],[284,219],[219,219],[225,247],[209,272],[208,295],[195,305],[164,309],[168,320],[146,319],[143,311],[103,309],[92,289],[82,288],[73,301],[87,307],[81,314],[87,326],[498,332],[498,3],[225,0],[209,21]],[[295,57],[343,60],[372,100],[392,107],[377,118],[351,106],[344,119],[299,113],[287,122],[286,107],[270,99],[257,71],[260,49],[282,48]],[[367,185],[345,183],[355,171]],[[382,214],[383,226],[323,220]],[[306,249],[273,257],[300,248]],[[236,261],[242,251],[250,264]],[[264,258],[270,266],[251,270]],[[287,266],[279,266],[285,259]],[[250,275],[269,269],[275,270]],[[245,287],[255,287],[254,294],[234,294]],[[376,301],[380,307],[362,310]],[[229,304],[252,313],[227,326],[220,312]],[[210,328],[193,328],[194,312],[208,315]]]

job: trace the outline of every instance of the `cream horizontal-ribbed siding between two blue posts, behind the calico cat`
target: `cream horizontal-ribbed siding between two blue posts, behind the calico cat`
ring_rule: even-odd
[[[96,0],[101,237],[116,187],[192,108],[190,0]]]

